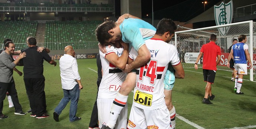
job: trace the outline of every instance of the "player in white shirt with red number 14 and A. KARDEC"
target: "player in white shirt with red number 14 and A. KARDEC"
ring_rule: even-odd
[[[170,19],[162,19],[153,38],[146,40],[151,53],[150,61],[136,69],[134,100],[129,116],[128,129],[159,128],[171,129],[170,114],[165,104],[164,74],[168,64],[181,67],[177,49],[170,42],[176,25]],[[129,58],[136,59],[138,53],[131,49]],[[129,63],[131,60],[129,59]],[[152,117],[157,116],[157,117]],[[136,125],[136,126],[134,126]]]

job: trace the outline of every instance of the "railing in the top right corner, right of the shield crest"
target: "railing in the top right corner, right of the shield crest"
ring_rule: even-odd
[[[256,4],[251,4],[248,6],[236,8],[236,12],[233,16],[234,17],[243,17],[246,15],[252,15],[252,14],[256,14]]]

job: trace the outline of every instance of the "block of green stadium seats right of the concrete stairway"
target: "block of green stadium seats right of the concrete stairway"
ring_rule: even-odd
[[[74,49],[97,48],[95,29],[102,21],[48,21],[45,29],[45,46],[61,50],[67,45]]]

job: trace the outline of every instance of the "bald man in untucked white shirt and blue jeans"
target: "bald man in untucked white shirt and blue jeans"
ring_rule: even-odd
[[[65,54],[60,57],[60,77],[61,84],[64,92],[64,97],[60,100],[59,105],[53,112],[53,119],[59,121],[59,115],[66,107],[69,100],[71,100],[69,109],[69,121],[81,120],[76,116],[78,100],[80,96],[80,90],[83,89],[81,84],[81,78],[78,73],[78,64],[75,58],[75,50],[72,46],[66,46],[64,50]]]

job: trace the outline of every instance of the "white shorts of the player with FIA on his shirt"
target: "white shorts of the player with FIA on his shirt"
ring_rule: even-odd
[[[111,107],[115,98],[98,98],[97,106],[98,106],[98,119],[99,119],[99,128],[102,125],[106,125],[108,123]],[[116,121],[115,129],[126,129],[127,126],[127,114],[128,108],[127,104],[121,110],[120,115]]]

